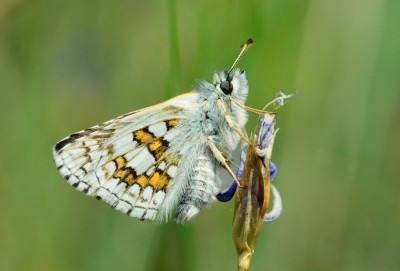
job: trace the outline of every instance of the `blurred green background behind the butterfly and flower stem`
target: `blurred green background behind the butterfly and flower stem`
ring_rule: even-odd
[[[400,270],[400,1],[160,2],[0,2],[0,270],[235,270],[232,203],[140,222],[70,187],[51,147],[211,80],[249,37],[247,104],[299,93],[252,270]]]

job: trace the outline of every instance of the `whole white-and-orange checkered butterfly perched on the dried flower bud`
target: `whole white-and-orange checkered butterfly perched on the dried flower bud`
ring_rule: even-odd
[[[215,200],[216,169],[241,138],[248,81],[236,68],[188,93],[71,134],[53,147],[58,171],[79,191],[141,220],[187,222]],[[237,181],[237,179],[235,179]],[[238,181],[237,181],[238,182]],[[240,184],[239,184],[240,185]]]

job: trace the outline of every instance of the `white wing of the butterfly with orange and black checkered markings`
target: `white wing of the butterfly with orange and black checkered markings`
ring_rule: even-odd
[[[174,181],[180,154],[169,148],[195,93],[128,113],[72,134],[53,148],[72,186],[140,219],[156,219]]]

